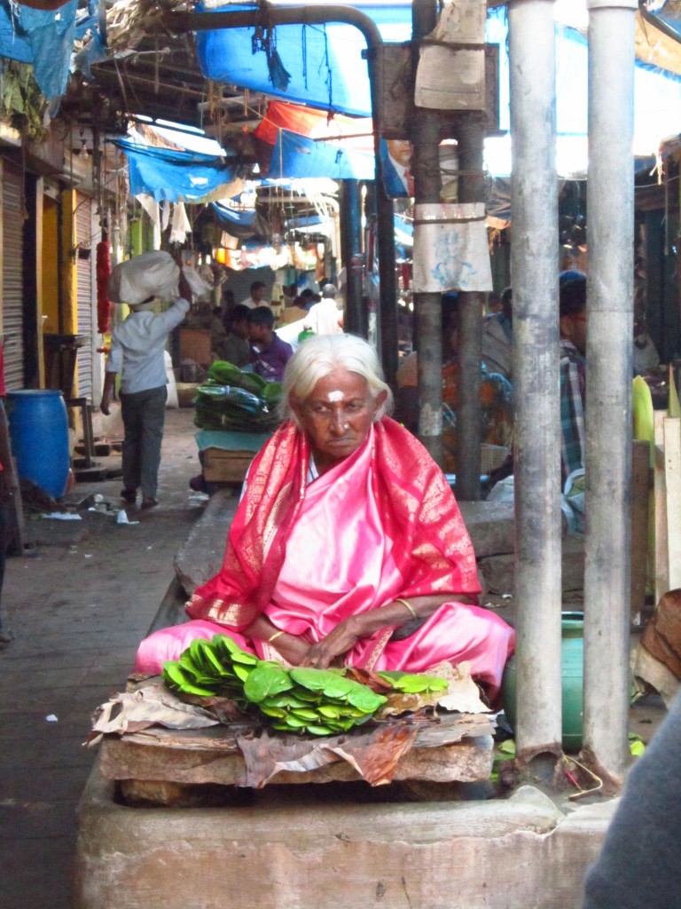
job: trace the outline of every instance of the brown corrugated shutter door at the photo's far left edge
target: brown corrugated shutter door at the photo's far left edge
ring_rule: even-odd
[[[24,177],[3,165],[3,333],[5,385],[24,387]]]

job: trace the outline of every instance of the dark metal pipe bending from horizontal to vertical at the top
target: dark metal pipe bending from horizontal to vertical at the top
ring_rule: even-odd
[[[380,276],[380,356],[386,381],[394,385],[398,361],[397,279],[395,276],[395,228],[393,207],[383,189],[383,166],[380,159],[382,132],[383,39],[370,17],[343,5],[286,6],[268,3],[262,9],[221,11],[217,13],[170,12],[163,23],[175,35],[212,31],[217,28],[249,28],[256,25],[323,25],[345,22],[359,29],[367,42],[367,67],[373,119],[374,163],[376,178],[376,219]]]

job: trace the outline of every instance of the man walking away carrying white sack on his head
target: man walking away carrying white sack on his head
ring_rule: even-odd
[[[102,413],[109,414],[116,374],[121,374],[123,490],[130,504],[142,491],[142,508],[158,504],[156,488],[168,396],[163,354],[168,334],[189,311],[192,290],[182,266],[168,253],[143,253],[115,265],[109,299],[130,306],[114,328],[106,360]],[[156,299],[174,300],[164,313],[152,312]]]

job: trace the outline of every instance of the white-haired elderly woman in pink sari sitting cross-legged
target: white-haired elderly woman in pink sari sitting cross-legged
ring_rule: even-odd
[[[426,672],[467,661],[493,699],[513,631],[475,605],[475,556],[439,467],[386,414],[374,349],[352,335],[302,344],[289,419],[256,455],[219,574],[191,622],[140,646],[159,672],[192,638],[229,634],[264,659]]]

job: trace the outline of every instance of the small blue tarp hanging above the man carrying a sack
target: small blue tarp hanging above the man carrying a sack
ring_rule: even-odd
[[[127,155],[132,195],[148,193],[156,202],[205,202],[221,193],[228,195],[224,187],[236,175],[236,165],[213,155],[155,148],[127,139],[116,139],[115,145]]]

